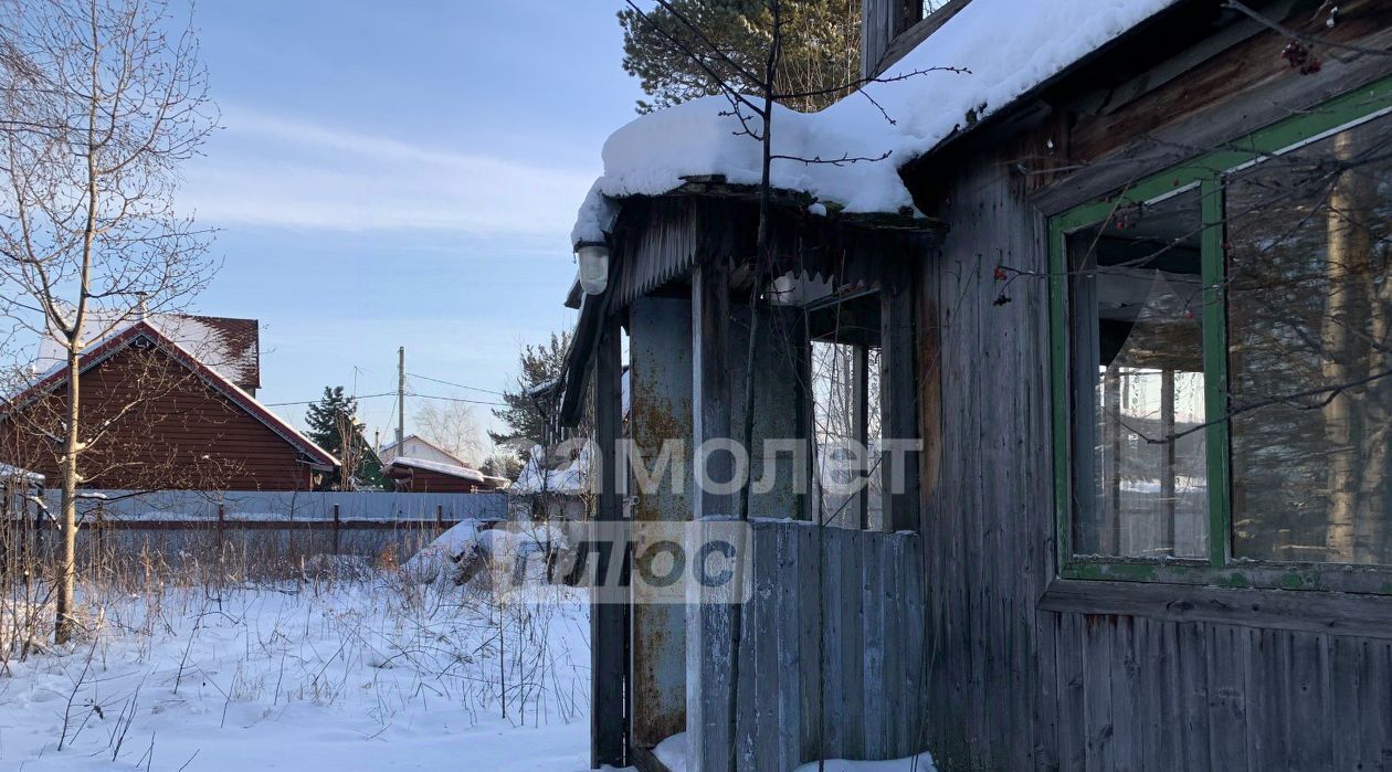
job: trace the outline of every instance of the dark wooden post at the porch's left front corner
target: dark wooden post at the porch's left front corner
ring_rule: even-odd
[[[624,470],[618,463],[618,440],[624,421],[622,349],[619,323],[607,317],[600,323],[594,362],[594,435],[601,460],[601,488],[596,520],[619,522],[624,517]],[[603,602],[603,593],[592,594],[590,608],[590,766],[628,765],[628,630],[626,604]],[[599,600],[600,602],[594,602]]]

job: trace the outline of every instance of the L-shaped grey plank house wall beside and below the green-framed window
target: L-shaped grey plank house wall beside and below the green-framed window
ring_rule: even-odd
[[[1044,218],[1011,168],[1002,150],[960,172],[923,285],[920,331],[941,341],[923,395],[923,747],[945,772],[1392,768],[1392,644],[1370,625],[1338,634],[1336,595],[1302,595],[1306,620],[1217,588],[1162,588],[1171,606],[1207,598],[1201,620],[1125,602],[1161,591],[1147,586],[1048,602],[1048,293],[992,280],[997,264],[1045,270]]]

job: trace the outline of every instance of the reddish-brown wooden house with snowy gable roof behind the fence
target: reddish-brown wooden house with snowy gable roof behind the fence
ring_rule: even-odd
[[[256,401],[255,320],[152,316],[113,327],[81,360],[82,487],[310,491],[337,459]],[[40,356],[53,356],[45,348]],[[57,479],[67,370],[50,362],[8,398],[0,453]]]

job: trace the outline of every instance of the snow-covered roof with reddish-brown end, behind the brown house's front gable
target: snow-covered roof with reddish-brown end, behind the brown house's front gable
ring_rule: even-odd
[[[132,324],[145,324],[160,330],[170,341],[177,342],[199,362],[213,369],[221,377],[242,389],[260,388],[260,325],[255,319],[231,319],[221,316],[193,316],[182,313],[157,313],[145,319],[111,319],[93,313],[82,325],[88,346],[118,335]],[[39,341],[39,356],[35,367],[46,373],[61,367],[67,349],[53,334]]]

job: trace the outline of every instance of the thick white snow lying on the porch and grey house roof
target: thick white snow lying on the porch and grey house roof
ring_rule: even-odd
[[[934,67],[898,82],[869,83],[820,113],[774,106],[773,152],[798,159],[877,159],[853,164],[773,161],[773,185],[812,193],[852,213],[913,207],[898,170],[973,120],[1006,107],[1084,56],[1178,0],[973,0],[884,72],[884,79]],[[757,103],[757,102],[756,102]],[[895,122],[885,120],[878,103]],[[683,177],[724,175],[759,184],[763,152],[739,132],[724,96],[643,115],[604,143],[604,175],[580,204],[572,243],[601,242],[617,199],[661,195]],[[746,110],[746,115],[748,110]],[[752,125],[759,127],[757,118]]]

